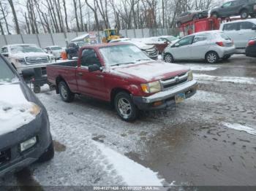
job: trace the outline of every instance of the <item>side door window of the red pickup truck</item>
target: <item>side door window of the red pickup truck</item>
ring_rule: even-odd
[[[82,66],[90,66],[93,64],[97,64],[98,66],[101,66],[96,52],[93,49],[83,50],[82,58],[81,58],[81,65]]]

